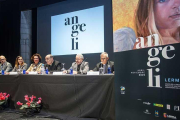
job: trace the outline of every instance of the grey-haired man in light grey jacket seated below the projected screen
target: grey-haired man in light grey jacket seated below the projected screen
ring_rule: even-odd
[[[72,69],[73,69],[73,74],[87,74],[89,71],[89,63],[83,61],[84,57],[82,54],[77,54],[76,55],[76,62],[72,63]],[[71,68],[70,67],[70,68]],[[64,71],[64,73],[70,73],[70,68],[67,71]]]

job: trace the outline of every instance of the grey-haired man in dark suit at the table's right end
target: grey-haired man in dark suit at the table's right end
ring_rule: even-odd
[[[101,62],[99,62],[96,65],[96,67],[93,69],[93,71],[99,71],[99,68],[103,67],[104,68],[104,73],[107,73],[108,72],[108,65],[110,65],[111,73],[114,72],[114,62],[109,61],[109,57],[108,57],[108,54],[106,52],[101,53],[100,60],[101,60]]]

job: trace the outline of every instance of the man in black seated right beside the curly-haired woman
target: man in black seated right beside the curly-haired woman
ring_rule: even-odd
[[[51,54],[46,55],[45,57],[46,64],[44,65],[45,69],[48,68],[49,72],[61,71],[61,63],[54,60]]]

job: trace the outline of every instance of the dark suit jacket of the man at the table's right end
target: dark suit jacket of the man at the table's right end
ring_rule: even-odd
[[[113,72],[114,72],[114,62],[113,62],[113,61],[108,61],[108,62],[106,63],[105,73],[108,72],[108,65],[110,65],[110,67],[111,67],[111,73],[113,73]],[[96,65],[96,67],[93,69],[93,71],[99,71],[99,68],[100,68],[101,66],[103,67],[103,65],[101,64],[101,62],[99,62],[99,63]]]

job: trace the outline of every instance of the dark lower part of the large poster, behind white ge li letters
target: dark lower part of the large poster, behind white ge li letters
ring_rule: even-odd
[[[154,48],[160,49],[166,46]],[[168,117],[165,118],[164,113],[176,116],[177,120],[180,119],[180,110],[174,109],[175,106],[180,106],[180,44],[172,44],[171,46],[175,50],[168,51],[167,55],[172,57],[175,54],[172,59],[165,59],[161,50],[159,50],[159,54],[155,55],[153,50],[152,55],[160,59],[160,64],[156,67],[148,67],[147,65],[148,52],[151,48],[115,53],[116,120],[166,120]],[[151,64],[156,65],[157,61],[155,60]],[[156,68],[159,68],[160,71],[156,72]],[[160,75],[161,88],[148,87],[149,74],[147,69],[152,69],[153,86],[156,85],[155,76]],[[177,80],[175,81],[175,79]],[[169,105],[169,109],[167,105]],[[155,114],[155,112],[157,113]]]

